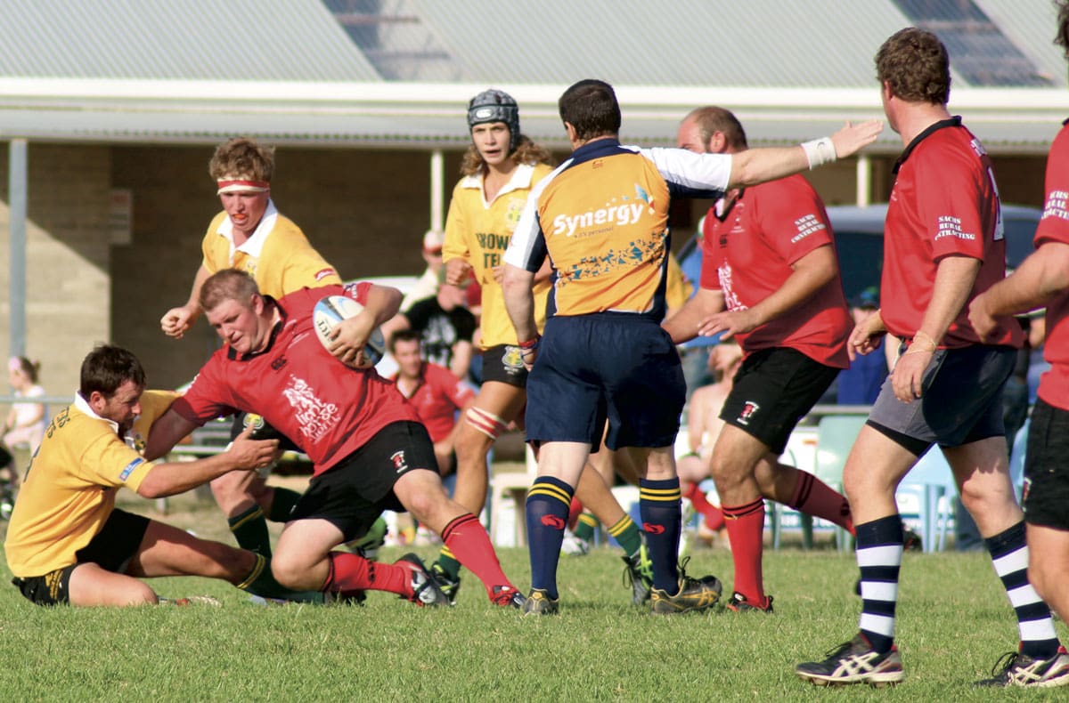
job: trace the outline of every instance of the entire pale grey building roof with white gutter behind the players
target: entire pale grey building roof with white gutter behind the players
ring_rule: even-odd
[[[940,3],[676,0],[668,12],[625,0],[507,11],[491,0],[393,0],[377,14],[348,11],[371,4],[6,0],[0,134],[459,149],[468,98],[493,85],[517,98],[526,134],[564,147],[556,99],[575,80],[599,77],[617,87],[624,141],[671,144],[683,114],[717,104],[737,112],[754,144],[792,143],[846,119],[882,116],[876,48],[911,22],[903,7]],[[1041,77],[1038,87],[991,88],[971,83],[982,71],[956,72],[951,109],[992,152],[1045,151],[1069,115],[1049,0],[949,4],[997,25],[1000,41],[1021,54],[1017,71]],[[967,38],[971,21],[956,31]],[[981,65],[990,59],[982,42],[965,44]],[[876,146],[900,149],[889,130]]]

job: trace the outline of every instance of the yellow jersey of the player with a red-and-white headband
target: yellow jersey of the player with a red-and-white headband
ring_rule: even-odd
[[[341,284],[338,271],[312,248],[293,220],[267,202],[252,236],[234,247],[233,224],[226,212],[212,220],[201,243],[203,266],[210,274],[238,268],[257,281],[260,292],[274,298],[321,285]]]

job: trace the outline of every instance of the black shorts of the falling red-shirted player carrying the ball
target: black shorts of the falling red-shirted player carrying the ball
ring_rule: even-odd
[[[393,484],[408,471],[438,472],[434,444],[418,422],[393,422],[324,473],[313,478],[291,520],[320,519],[356,540],[384,511],[403,513]]]

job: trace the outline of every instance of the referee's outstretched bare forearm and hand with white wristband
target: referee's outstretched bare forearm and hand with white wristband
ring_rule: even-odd
[[[870,120],[856,125],[847,123],[831,137],[815,139],[799,146],[747,149],[731,155],[728,188],[754,186],[775,181],[822,163],[856,154],[871,144],[883,130],[883,122]]]

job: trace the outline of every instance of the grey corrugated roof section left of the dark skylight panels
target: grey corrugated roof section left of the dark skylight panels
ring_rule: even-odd
[[[0,76],[382,80],[321,0],[4,0]]]

